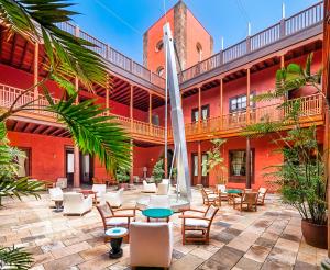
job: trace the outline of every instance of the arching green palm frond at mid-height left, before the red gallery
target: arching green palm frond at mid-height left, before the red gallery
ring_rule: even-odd
[[[76,145],[84,151],[98,156],[108,171],[130,167],[130,138],[113,116],[100,116],[107,110],[95,105],[95,100],[75,104],[76,94],[61,100],[46,110],[58,115],[67,125]]]

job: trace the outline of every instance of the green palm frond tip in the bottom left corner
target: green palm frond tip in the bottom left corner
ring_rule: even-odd
[[[24,251],[23,248],[0,248],[0,269],[28,270],[32,263],[32,255]]]

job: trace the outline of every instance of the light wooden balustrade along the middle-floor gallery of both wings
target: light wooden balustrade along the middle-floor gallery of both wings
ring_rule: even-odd
[[[13,101],[22,93],[22,89],[0,85],[0,106],[8,109]],[[15,106],[20,106],[28,102],[33,101],[33,92],[28,92],[22,95]],[[58,101],[55,99],[55,102]],[[294,99],[288,101],[288,106],[285,109],[278,109],[280,104],[279,101],[274,104],[263,105],[258,108],[251,108],[250,120],[251,123],[261,123],[266,121],[283,121],[292,112],[293,106],[296,102],[299,102],[299,111],[301,120],[312,121],[311,117],[322,115],[323,99],[321,94],[312,94],[302,97],[299,99]],[[47,105],[47,101],[44,97],[40,95],[36,104],[33,105],[35,111],[31,111],[34,114],[41,114],[45,116],[54,115],[50,112],[40,111],[41,106]],[[107,113],[103,113],[107,115]],[[165,137],[165,130],[163,126],[151,125],[150,123],[142,122],[139,120],[131,120],[122,115],[110,114],[113,116],[113,121],[117,121],[122,125],[128,133],[132,134],[133,137],[139,137],[142,139],[153,139],[162,143]],[[185,125],[186,136],[188,138],[194,138],[195,136],[208,136],[212,134],[222,134],[230,132],[239,132],[241,128],[246,126],[246,111],[229,113],[222,117],[217,116],[212,119],[207,119],[201,123],[187,123]],[[168,139],[173,139],[172,130],[168,128]]]

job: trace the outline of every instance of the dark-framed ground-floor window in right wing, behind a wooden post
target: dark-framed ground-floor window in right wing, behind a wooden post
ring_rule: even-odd
[[[229,151],[229,181],[245,182],[246,181],[246,150],[230,150]],[[251,150],[251,180],[254,176],[254,150]]]

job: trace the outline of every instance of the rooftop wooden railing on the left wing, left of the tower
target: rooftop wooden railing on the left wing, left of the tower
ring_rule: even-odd
[[[106,60],[110,61],[111,64],[129,71],[162,89],[165,88],[165,79],[158,76],[155,72],[152,72],[144,66],[140,65],[139,63],[132,60],[131,58],[127,57],[122,53],[116,50],[114,48],[110,47],[108,44],[101,42],[100,40],[94,37],[92,35],[88,34],[87,32],[80,30],[78,26],[64,22],[57,24],[59,29],[66,31],[75,36],[79,36],[80,38],[90,42],[95,45],[95,47],[89,47],[94,52],[101,55]]]

